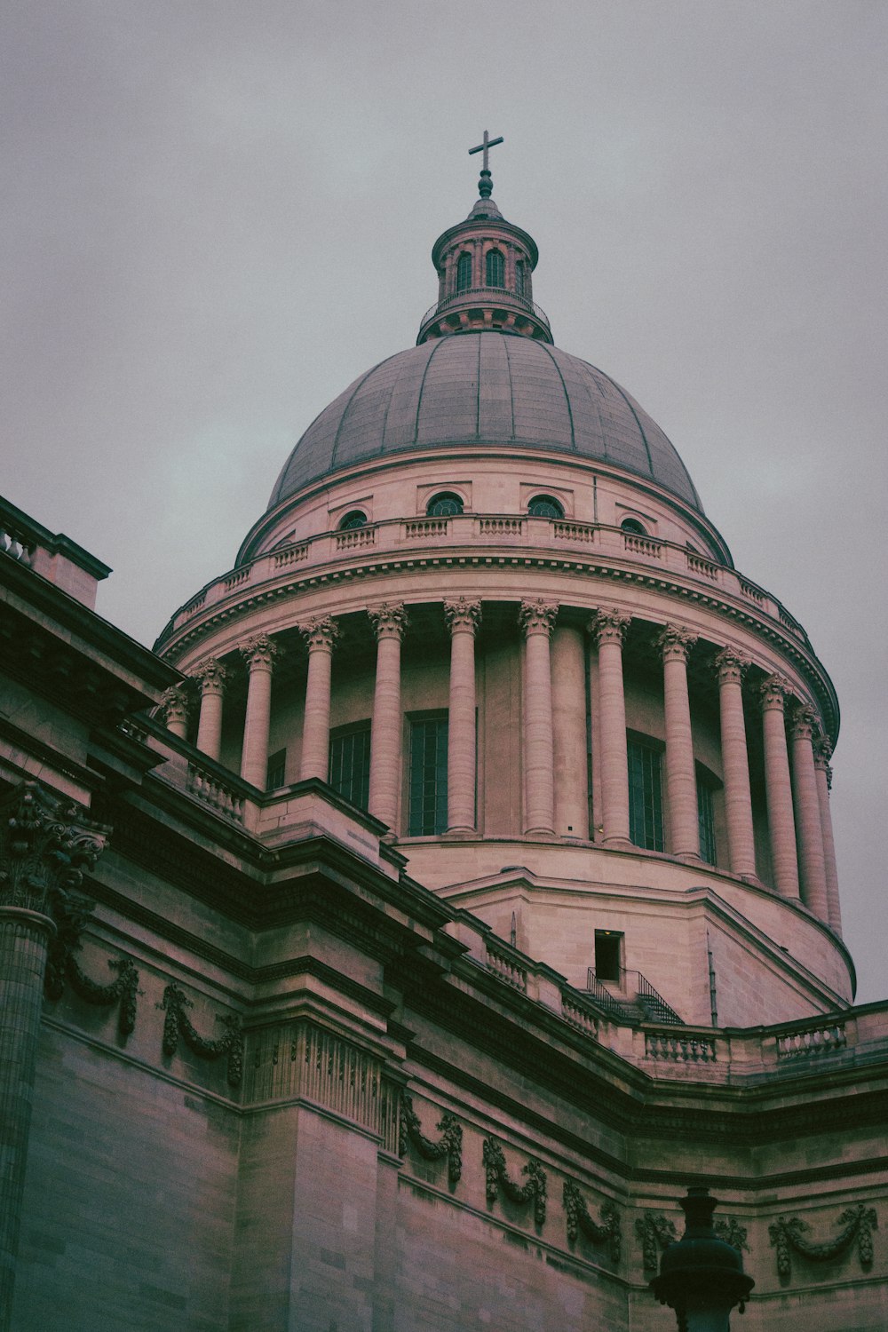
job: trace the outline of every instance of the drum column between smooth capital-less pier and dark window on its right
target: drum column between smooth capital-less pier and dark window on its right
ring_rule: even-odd
[[[623,638],[631,615],[598,610],[590,633],[598,642],[598,706],[602,737],[602,822],[604,846],[630,846],[628,758],[626,753],[626,697],[623,694]]]

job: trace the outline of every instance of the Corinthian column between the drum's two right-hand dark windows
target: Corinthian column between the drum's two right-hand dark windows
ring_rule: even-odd
[[[667,625],[656,638],[663,657],[663,707],[666,714],[666,797],[668,801],[668,848],[683,859],[700,859],[700,823],[696,810],[696,773],[691,734],[691,702],[687,691],[687,654],[696,634]]]

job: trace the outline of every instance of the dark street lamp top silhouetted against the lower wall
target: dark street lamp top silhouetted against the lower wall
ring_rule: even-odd
[[[739,1304],[743,1313],[755,1285],[738,1249],[712,1228],[718,1201],[708,1188],[688,1188],[682,1199],[684,1235],[664,1251],[660,1275],[651,1281],[660,1304],[675,1309],[678,1332],[730,1332],[731,1309]]]

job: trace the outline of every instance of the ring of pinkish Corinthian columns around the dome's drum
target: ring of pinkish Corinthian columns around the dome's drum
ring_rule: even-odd
[[[586,753],[587,687],[594,723],[594,840],[628,848],[630,783],[623,686],[623,645],[631,617],[616,607],[598,609],[587,633],[592,647],[588,682],[586,643],[574,626],[556,626],[559,606],[545,598],[522,601],[523,635],[522,769],[526,836],[587,840],[588,775]],[[477,831],[475,637],[481,601],[459,597],[443,603],[450,630],[447,734],[447,831]],[[398,826],[402,785],[401,646],[407,627],[405,606],[381,603],[367,610],[377,639],[370,733],[369,810]],[[338,638],[335,621],[314,617],[298,629],[308,646],[305,723],[300,779],[328,778],[330,683]],[[700,860],[699,815],[688,654],[696,637],[666,625],[654,639],[663,667],[664,795],[667,851],[688,863]],[[268,767],[272,674],[278,645],[268,634],[240,646],[248,667],[241,775],[262,787]],[[743,678],[751,662],[735,647],[715,657],[722,734],[722,775],[727,863],[732,874],[756,880]],[[225,666],[210,659],[194,671],[200,689],[197,746],[220,758]],[[774,887],[801,899],[833,928],[840,928],[835,844],[829,815],[829,749],[817,733],[813,709],[792,697],[780,674],[756,687],[762,715],[764,786]],[[188,699],[181,689],[166,695],[168,726],[186,733]],[[789,743],[787,745],[787,722]]]

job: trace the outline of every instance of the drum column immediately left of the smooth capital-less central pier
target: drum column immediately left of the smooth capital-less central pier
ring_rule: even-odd
[[[522,601],[518,611],[525,654],[525,832],[555,831],[555,767],[553,743],[553,675],[549,639],[558,605]]]

